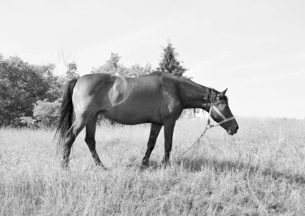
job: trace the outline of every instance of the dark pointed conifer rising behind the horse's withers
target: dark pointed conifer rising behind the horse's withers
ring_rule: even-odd
[[[162,59],[157,68],[158,71],[182,77],[184,73],[189,70],[180,65],[180,62],[183,63],[183,61],[177,60],[178,53],[175,52],[175,48],[173,48],[169,40],[167,40],[167,46],[163,47],[163,54],[161,57]]]

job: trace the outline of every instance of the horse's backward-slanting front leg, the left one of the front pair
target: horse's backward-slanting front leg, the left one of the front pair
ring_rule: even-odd
[[[145,168],[148,165],[151,151],[153,151],[155,148],[156,141],[157,141],[161,128],[162,128],[162,125],[157,125],[157,124],[151,123],[149,139],[147,142],[147,150],[146,150],[145,156],[142,160],[141,168]]]

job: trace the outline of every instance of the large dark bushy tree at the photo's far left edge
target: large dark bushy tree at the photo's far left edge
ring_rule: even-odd
[[[33,103],[51,98],[42,69],[18,56],[0,57],[0,125],[18,125],[20,117],[33,115]]]

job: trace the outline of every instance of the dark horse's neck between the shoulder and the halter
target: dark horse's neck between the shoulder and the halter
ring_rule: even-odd
[[[181,95],[184,96],[182,100],[185,108],[205,108],[204,105],[207,100],[206,87],[188,80],[181,80],[179,86]]]

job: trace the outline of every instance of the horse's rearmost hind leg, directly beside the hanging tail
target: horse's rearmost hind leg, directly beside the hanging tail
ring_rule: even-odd
[[[94,116],[95,113],[84,112],[81,115],[75,117],[73,125],[66,134],[65,144],[64,144],[64,160],[63,167],[68,167],[69,165],[69,156],[71,152],[71,147],[77,137],[77,135],[83,130],[88,121]]]

